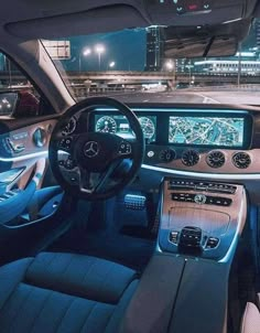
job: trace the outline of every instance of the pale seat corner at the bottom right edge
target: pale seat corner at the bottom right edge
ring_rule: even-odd
[[[246,305],[240,332],[241,333],[260,332],[260,312],[258,307],[251,302],[248,302]]]

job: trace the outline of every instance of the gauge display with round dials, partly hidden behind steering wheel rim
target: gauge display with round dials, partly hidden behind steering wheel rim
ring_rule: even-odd
[[[138,117],[142,127],[144,138],[151,142],[156,140],[156,117],[143,116]],[[115,133],[124,139],[133,138],[133,132],[130,129],[129,122],[124,116],[121,115],[96,115],[95,116],[95,131]]]

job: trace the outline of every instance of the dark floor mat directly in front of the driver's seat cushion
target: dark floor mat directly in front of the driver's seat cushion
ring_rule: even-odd
[[[142,271],[155,248],[155,241],[108,232],[71,229],[47,250],[96,256]]]

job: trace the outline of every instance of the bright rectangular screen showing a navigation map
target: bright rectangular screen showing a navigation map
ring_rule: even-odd
[[[243,117],[170,117],[169,143],[242,148],[243,141]]]

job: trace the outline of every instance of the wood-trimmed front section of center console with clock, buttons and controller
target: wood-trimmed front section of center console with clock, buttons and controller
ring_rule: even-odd
[[[159,249],[228,260],[246,215],[247,200],[241,185],[165,179]]]

